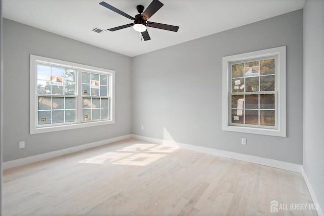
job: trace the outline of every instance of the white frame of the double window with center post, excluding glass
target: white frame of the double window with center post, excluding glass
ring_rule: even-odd
[[[76,98],[76,115],[75,118],[79,119],[76,121],[76,123],[67,123],[62,125],[51,125],[51,126],[42,126],[37,127],[38,123],[38,114],[37,114],[37,106],[38,106],[38,100],[37,100],[37,77],[36,77],[36,71],[37,71],[37,63],[43,63],[43,64],[51,64],[51,65],[57,65],[60,67],[67,67],[77,70],[76,74],[76,89],[75,89],[75,98]],[[98,73],[98,74],[109,74],[109,99],[110,103],[108,106],[110,119],[109,120],[98,120],[98,121],[84,121],[82,120],[82,98],[91,98],[91,95],[82,95],[81,94],[81,74],[82,72],[92,72],[92,73]],[[69,97],[69,95],[67,95]],[[105,124],[113,124],[115,123],[115,71],[109,70],[105,68],[99,68],[89,65],[83,65],[73,62],[67,62],[42,56],[35,56],[30,55],[30,134],[40,134],[40,133],[48,133],[48,132],[56,132],[56,131],[63,131],[66,129],[75,129],[75,128],[82,128],[82,127],[89,127],[89,126],[97,126],[97,125],[105,125]]]

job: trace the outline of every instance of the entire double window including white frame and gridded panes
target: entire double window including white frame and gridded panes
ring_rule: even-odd
[[[112,70],[31,55],[30,83],[31,134],[114,123]]]

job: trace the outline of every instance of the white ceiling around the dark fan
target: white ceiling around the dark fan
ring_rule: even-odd
[[[3,16],[36,28],[130,57],[180,44],[304,7],[305,0],[159,0],[164,6],[151,22],[180,26],[178,32],[148,27],[151,40],[141,40],[132,27],[102,34],[91,31],[132,23],[109,5],[135,17],[136,6],[151,0],[3,0]]]

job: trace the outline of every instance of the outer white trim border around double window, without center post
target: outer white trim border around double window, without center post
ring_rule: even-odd
[[[102,121],[92,121],[92,122],[83,122],[83,123],[74,123],[74,124],[64,124],[64,125],[56,125],[56,126],[49,126],[49,127],[36,127],[37,122],[37,115],[36,115],[36,63],[43,62],[47,64],[59,64],[61,66],[66,66],[69,68],[76,68],[80,70],[86,70],[90,72],[107,72],[112,74],[111,76],[111,84],[110,86],[110,100],[111,100],[111,108],[110,108],[110,120],[102,120]],[[83,128],[89,126],[98,126],[98,125],[105,125],[105,124],[113,124],[115,123],[115,71],[105,68],[99,68],[84,64],[78,64],[74,62],[67,62],[63,60],[57,60],[42,56],[30,55],[30,92],[29,92],[29,102],[30,102],[30,110],[29,110],[29,133],[30,134],[41,134],[41,133],[48,133],[48,132],[56,132],[56,131],[63,131],[66,129],[76,129],[76,128]],[[78,74],[79,76],[80,74]],[[78,83],[78,88],[80,88],[80,84]],[[78,96],[78,94],[76,95]]]

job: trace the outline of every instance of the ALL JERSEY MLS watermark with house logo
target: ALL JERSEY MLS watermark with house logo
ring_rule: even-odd
[[[318,210],[319,204],[316,203],[278,203],[276,200],[270,202],[270,212],[275,213],[278,210]]]

